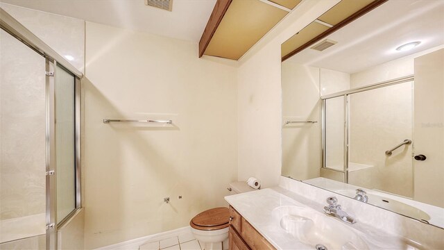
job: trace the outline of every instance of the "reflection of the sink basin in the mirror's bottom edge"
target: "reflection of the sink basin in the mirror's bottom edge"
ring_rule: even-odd
[[[412,217],[414,219],[420,219],[426,222],[430,220],[430,216],[418,208],[407,205],[406,203],[402,203],[401,201],[395,201],[394,199],[379,196],[373,192],[368,192],[368,190],[366,191],[368,203],[370,204],[379,206],[379,208],[391,210],[395,213],[400,213],[401,215],[407,215],[408,217]],[[337,190],[336,192],[352,198],[356,196],[355,190]]]

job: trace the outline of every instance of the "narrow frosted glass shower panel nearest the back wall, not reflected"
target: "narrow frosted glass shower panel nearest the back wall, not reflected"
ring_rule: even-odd
[[[76,208],[74,81],[56,66],[57,223]]]

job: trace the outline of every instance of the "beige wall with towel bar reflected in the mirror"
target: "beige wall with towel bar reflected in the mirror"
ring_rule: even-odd
[[[282,63],[282,175],[297,180],[319,177],[321,101],[319,68]],[[317,123],[285,124],[285,121]]]

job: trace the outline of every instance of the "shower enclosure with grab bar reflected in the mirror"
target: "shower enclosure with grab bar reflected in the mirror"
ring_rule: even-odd
[[[322,99],[321,176],[413,197],[413,76]]]

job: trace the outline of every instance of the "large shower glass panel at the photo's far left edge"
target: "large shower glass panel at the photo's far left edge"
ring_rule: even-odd
[[[42,56],[0,29],[0,248],[45,248],[44,72]]]

